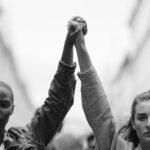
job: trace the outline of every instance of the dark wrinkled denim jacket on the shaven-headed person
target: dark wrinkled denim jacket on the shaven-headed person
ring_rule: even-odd
[[[50,142],[73,104],[76,64],[59,62],[48,97],[25,127],[12,127],[5,132],[6,150],[43,150]]]

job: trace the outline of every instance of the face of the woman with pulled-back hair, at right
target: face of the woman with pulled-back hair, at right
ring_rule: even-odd
[[[140,142],[150,143],[150,101],[139,102],[134,117],[132,125]]]

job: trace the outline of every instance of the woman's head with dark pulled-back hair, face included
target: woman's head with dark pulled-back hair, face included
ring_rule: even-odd
[[[150,90],[135,97],[131,106],[131,117],[119,133],[126,132],[125,139],[135,147],[150,144]]]

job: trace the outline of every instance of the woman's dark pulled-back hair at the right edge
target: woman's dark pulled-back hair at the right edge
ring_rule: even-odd
[[[118,131],[118,134],[121,134],[125,140],[128,142],[132,142],[135,147],[139,144],[139,138],[137,136],[136,130],[132,127],[132,122],[134,121],[135,117],[135,107],[137,104],[143,101],[149,101],[150,100],[150,90],[143,92],[139,95],[137,95],[132,103],[131,106],[131,117],[128,120],[128,122],[120,128]]]

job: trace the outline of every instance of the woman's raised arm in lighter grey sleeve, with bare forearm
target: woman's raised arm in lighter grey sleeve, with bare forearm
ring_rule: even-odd
[[[107,96],[97,72],[92,65],[85,45],[85,37],[80,30],[75,42],[81,80],[82,106],[87,121],[93,129],[99,150],[110,150],[115,125]]]

